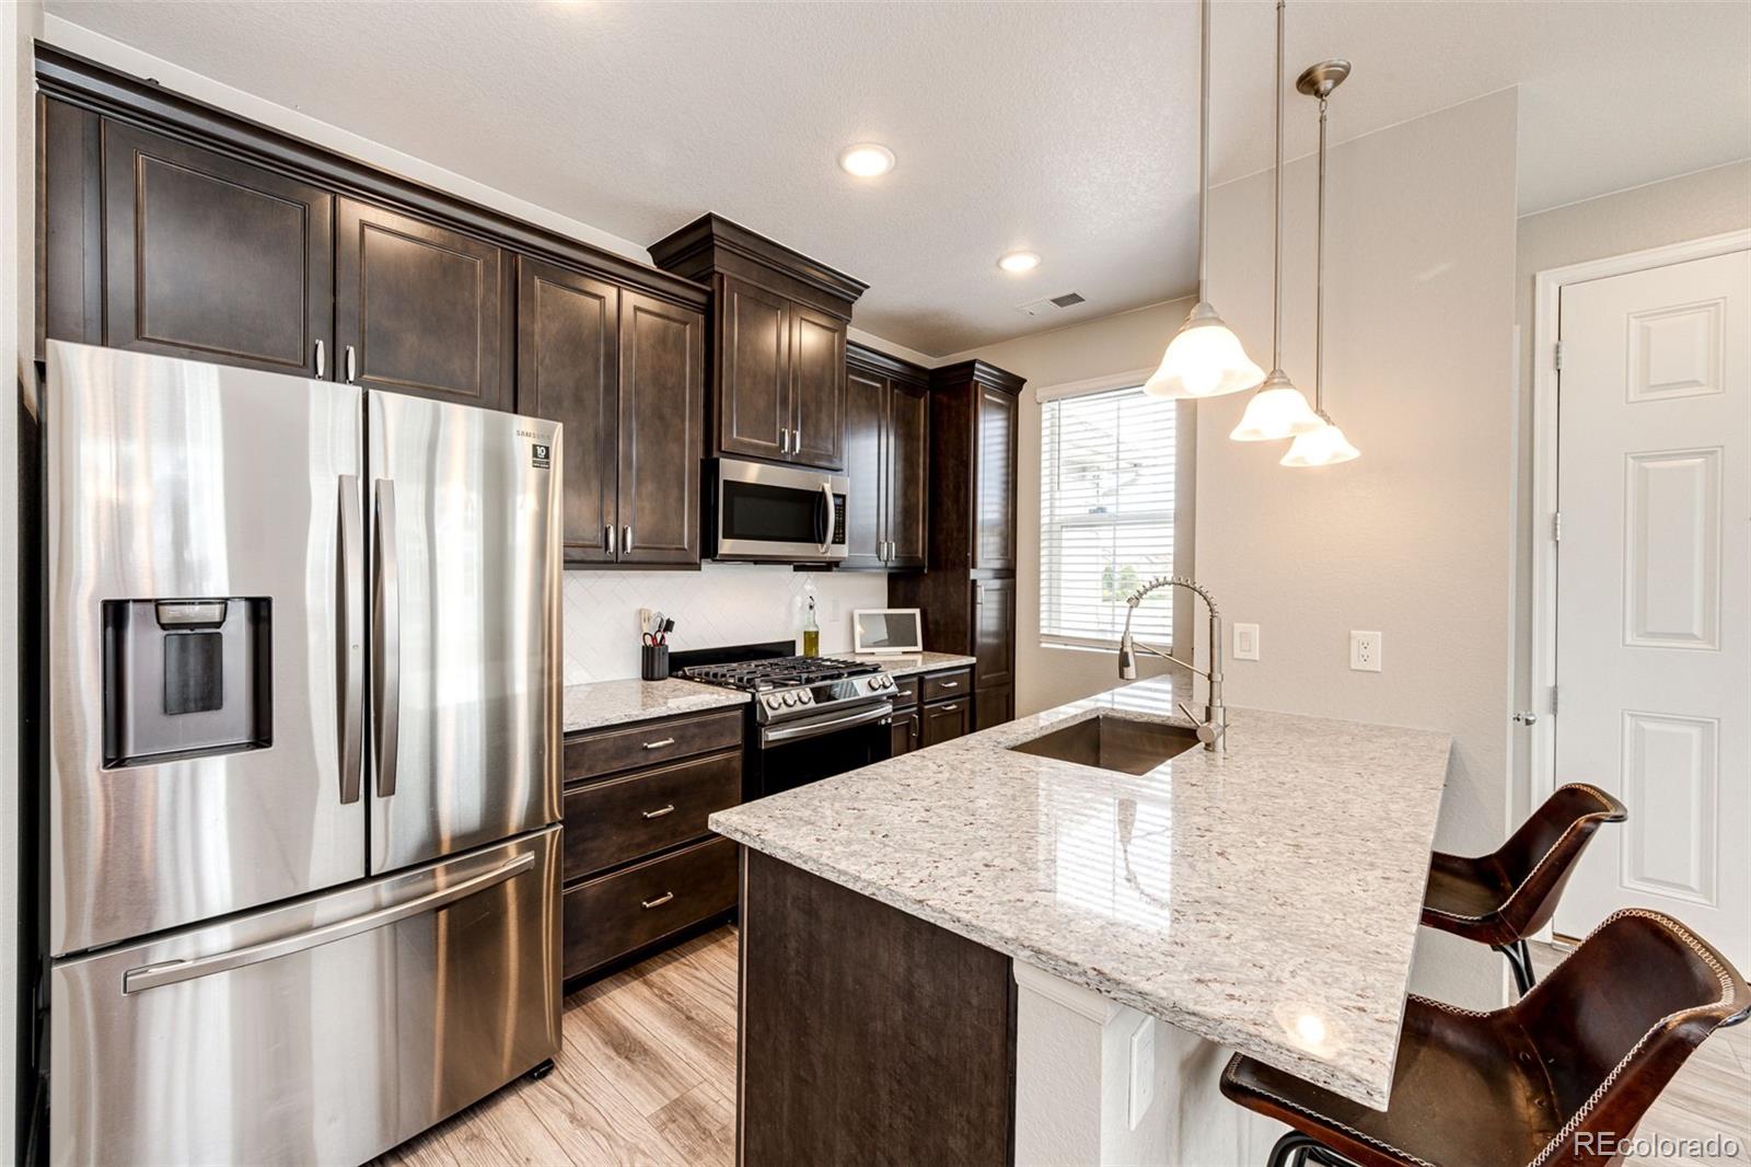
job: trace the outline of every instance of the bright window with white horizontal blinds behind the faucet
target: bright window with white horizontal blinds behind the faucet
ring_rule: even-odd
[[[1040,407],[1040,640],[1112,647],[1124,598],[1173,575],[1178,408],[1138,389]],[[1152,592],[1131,631],[1173,641],[1173,589]]]

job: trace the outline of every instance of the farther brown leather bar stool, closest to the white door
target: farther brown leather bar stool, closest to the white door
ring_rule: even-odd
[[[1469,859],[1436,852],[1424,892],[1424,925],[1497,950],[1508,957],[1515,985],[1527,992],[1536,980],[1527,937],[1550,923],[1599,824],[1625,818],[1623,803],[1597,787],[1574,783],[1544,799],[1490,855]]]

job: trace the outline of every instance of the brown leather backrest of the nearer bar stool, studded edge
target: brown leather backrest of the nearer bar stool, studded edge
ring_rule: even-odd
[[[1746,1009],[1744,978],[1683,923],[1642,908],[1607,916],[1508,1008],[1565,1123],[1532,1167],[1609,1162],[1602,1135],[1628,1139],[1684,1058]]]

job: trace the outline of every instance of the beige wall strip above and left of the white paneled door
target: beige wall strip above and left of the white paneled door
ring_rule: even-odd
[[[1520,442],[1515,571],[1515,708],[1539,710],[1532,692],[1532,555],[1548,520],[1532,515],[1532,282],[1539,272],[1751,228],[1751,159],[1665,182],[1600,194],[1520,219],[1515,321],[1520,324]],[[1530,813],[1529,734],[1515,734],[1513,818]],[[1571,778],[1558,776],[1558,782]]]

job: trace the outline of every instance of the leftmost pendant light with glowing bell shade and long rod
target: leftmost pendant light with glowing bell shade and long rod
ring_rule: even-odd
[[[1210,251],[1210,0],[1199,11],[1203,56],[1198,67],[1198,303],[1173,333],[1168,350],[1143,393],[1157,398],[1217,398],[1252,389],[1264,380],[1240,336],[1210,307],[1206,252]]]

